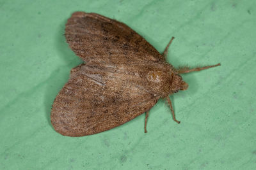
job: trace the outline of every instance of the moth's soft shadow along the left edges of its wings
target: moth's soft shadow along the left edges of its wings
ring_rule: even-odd
[[[55,97],[67,82],[72,67],[76,67],[83,62],[74,52],[72,52],[65,41],[64,32],[66,22],[67,20],[60,22],[60,25],[56,30],[55,47],[58,52],[58,57],[61,59],[61,64],[58,64],[57,62],[53,64],[56,66],[56,69],[54,69],[51,76],[49,76],[44,96],[45,118],[49,125],[51,125],[51,107]]]

